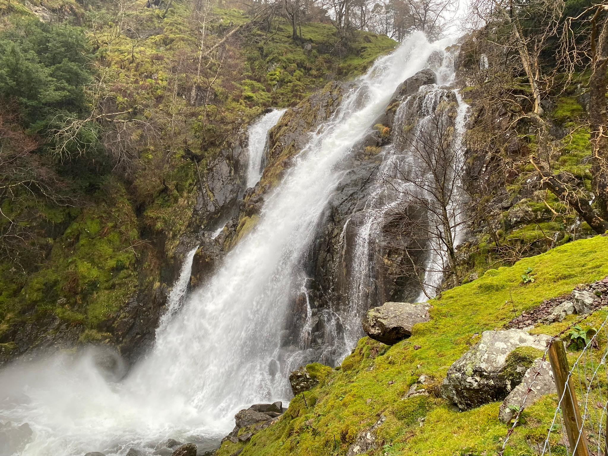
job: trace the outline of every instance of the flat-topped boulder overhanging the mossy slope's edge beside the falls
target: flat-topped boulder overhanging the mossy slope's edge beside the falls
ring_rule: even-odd
[[[367,312],[363,330],[372,339],[394,345],[412,335],[413,325],[429,321],[429,308],[426,303],[387,302]]]

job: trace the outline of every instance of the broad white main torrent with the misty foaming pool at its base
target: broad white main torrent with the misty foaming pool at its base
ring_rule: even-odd
[[[22,456],[124,455],[131,446],[153,454],[169,437],[201,443],[225,435],[233,413],[252,402],[288,399],[288,373],[300,358],[282,348],[286,307],[342,177],[338,165],[399,83],[445,44],[414,34],[359,78],[266,197],[255,229],[159,328],[153,350],[126,378],[104,376],[93,355],[55,355],[2,371],[0,421],[33,429]]]

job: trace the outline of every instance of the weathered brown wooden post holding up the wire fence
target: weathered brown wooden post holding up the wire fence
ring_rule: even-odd
[[[572,451],[573,456],[589,456],[589,444],[587,444],[587,437],[582,430],[581,412],[578,409],[572,378],[568,378],[570,367],[568,367],[564,342],[561,339],[551,340],[549,359],[555,387],[558,390],[558,400],[564,395],[561,407],[568,441],[570,442],[570,451]]]

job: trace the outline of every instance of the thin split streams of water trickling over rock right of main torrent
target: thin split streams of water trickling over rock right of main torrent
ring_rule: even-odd
[[[449,111],[443,109],[443,112],[438,114],[438,109],[441,103],[449,103],[451,94],[455,95],[458,103],[456,116],[454,120],[454,133],[451,138],[451,150],[455,155],[455,162],[452,173],[461,169],[463,162],[463,140],[465,136],[465,122],[468,112],[468,105],[463,102],[457,89],[446,88],[446,86],[454,83],[454,53],[444,52],[443,63],[435,69],[437,75],[437,83],[433,85],[422,86],[418,94],[410,95],[401,101],[399,108],[393,119],[393,130],[391,133],[391,143],[385,146],[381,152],[382,164],[379,167],[378,174],[371,186],[370,195],[365,201],[364,209],[361,211],[364,214],[364,219],[361,226],[356,230],[354,238],[354,246],[348,257],[350,261],[350,276],[348,289],[348,307],[347,309],[336,311],[340,319],[340,324],[343,328],[342,336],[334,340],[337,352],[344,358],[356,342],[364,336],[361,327],[361,316],[367,309],[374,305],[380,305],[380,297],[374,293],[378,290],[372,289],[371,284],[375,282],[375,275],[379,270],[379,260],[381,257],[380,250],[382,246],[378,245],[378,239],[382,236],[382,226],[386,222],[387,215],[390,215],[391,210],[402,202],[404,195],[404,187],[407,182],[400,182],[395,179],[395,171],[397,169],[409,170],[414,165],[416,160],[413,148],[415,148],[416,140],[424,129],[427,128],[430,120],[434,116],[443,116],[444,119],[449,117]],[[413,98],[420,98],[420,105],[410,105]],[[408,111],[416,108],[415,112]],[[407,145],[400,144],[400,138],[408,114],[413,114],[417,118],[415,130],[413,132],[413,140]],[[437,140],[442,140],[438,138]],[[403,171],[401,171],[403,172]],[[430,179],[430,177],[429,177]],[[463,229],[458,218],[463,212],[463,192],[461,191],[460,176],[458,175],[455,185],[455,191],[447,205],[447,213],[452,219],[452,235],[454,237],[454,246],[458,246],[461,242]],[[401,195],[399,193],[403,192]],[[358,215],[361,215],[361,212]],[[346,232],[347,220],[342,229],[343,237]],[[434,243],[433,248],[427,252],[426,260],[424,261],[424,278],[421,280],[422,288],[413,302],[426,302],[429,297],[434,297],[437,289],[440,288],[443,281],[443,272],[446,265],[446,254],[443,252],[438,240],[431,239],[430,243]]]

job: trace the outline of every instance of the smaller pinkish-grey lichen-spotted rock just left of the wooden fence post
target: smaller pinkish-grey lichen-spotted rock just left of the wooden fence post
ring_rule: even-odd
[[[530,389],[529,393],[528,389]],[[555,392],[555,382],[551,364],[542,361],[541,358],[535,359],[523,376],[522,382],[500,404],[498,415],[500,421],[510,423],[519,408],[531,406],[542,396],[553,392]]]

